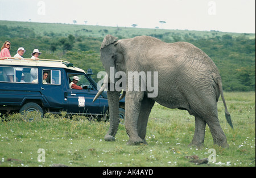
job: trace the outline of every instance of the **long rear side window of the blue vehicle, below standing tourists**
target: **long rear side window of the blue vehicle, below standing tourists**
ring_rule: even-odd
[[[38,78],[38,68],[0,67],[0,82],[38,83],[32,82]]]

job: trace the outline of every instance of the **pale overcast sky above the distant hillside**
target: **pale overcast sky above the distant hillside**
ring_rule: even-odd
[[[255,33],[255,0],[0,0],[0,20]]]

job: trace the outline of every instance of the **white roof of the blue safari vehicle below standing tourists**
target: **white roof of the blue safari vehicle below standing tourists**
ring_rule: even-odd
[[[63,61],[63,60],[47,60],[47,59],[34,60],[30,58],[24,58],[23,60],[19,60],[15,57],[9,57],[9,58],[5,57],[5,58],[0,58],[0,65],[56,67],[56,68],[71,69],[71,70],[85,73],[84,70],[73,66],[73,64],[68,61]]]

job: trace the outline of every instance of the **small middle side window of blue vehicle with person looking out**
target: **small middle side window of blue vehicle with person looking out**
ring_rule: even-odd
[[[43,70],[43,84],[61,84],[60,70]]]

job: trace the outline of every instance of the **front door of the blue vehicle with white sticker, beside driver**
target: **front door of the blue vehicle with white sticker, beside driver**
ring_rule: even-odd
[[[69,73],[69,83],[72,82],[73,77],[75,76],[79,78],[79,82],[76,85],[82,87],[82,90],[72,88],[68,89],[68,112],[86,115],[94,115],[100,113],[100,100],[97,99],[93,103],[94,96],[97,94],[96,88],[94,88],[92,83],[90,83],[88,77],[81,73]]]

